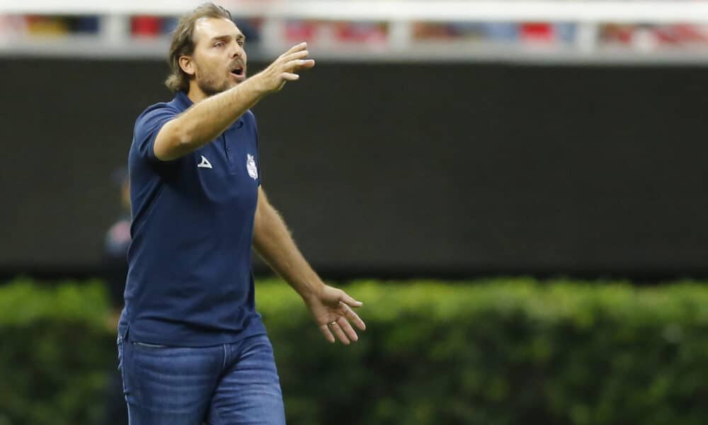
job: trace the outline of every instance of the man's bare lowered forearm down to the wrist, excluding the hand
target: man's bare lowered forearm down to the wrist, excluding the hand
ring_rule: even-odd
[[[309,266],[275,209],[259,200],[253,226],[253,245],[271,268],[284,278],[303,298],[319,294],[322,283]]]

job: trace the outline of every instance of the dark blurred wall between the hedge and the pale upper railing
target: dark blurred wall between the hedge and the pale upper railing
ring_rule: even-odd
[[[166,66],[0,71],[0,268],[95,266]],[[329,273],[708,270],[707,69],[321,63],[254,111],[263,187]]]

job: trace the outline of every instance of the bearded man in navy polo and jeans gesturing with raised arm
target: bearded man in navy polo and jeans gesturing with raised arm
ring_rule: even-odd
[[[129,154],[132,243],[119,365],[131,425],[283,424],[270,341],[253,305],[251,244],[343,344],[361,303],[325,285],[268,203],[251,106],[314,67],[292,47],[246,79],[244,35],[204,4],[170,48],[169,103],[137,118]]]

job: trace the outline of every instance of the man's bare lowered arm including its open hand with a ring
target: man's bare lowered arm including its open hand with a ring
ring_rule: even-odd
[[[322,282],[297,249],[285,222],[268,202],[263,188],[258,188],[253,246],[273,271],[302,297],[328,341],[335,341],[332,332],[343,344],[358,339],[350,322],[361,330],[365,329],[362,319],[352,310],[352,307],[361,307],[362,303],[343,290]]]

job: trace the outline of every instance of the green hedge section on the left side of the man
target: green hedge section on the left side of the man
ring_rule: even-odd
[[[115,336],[98,281],[0,286],[0,425],[93,424]]]

